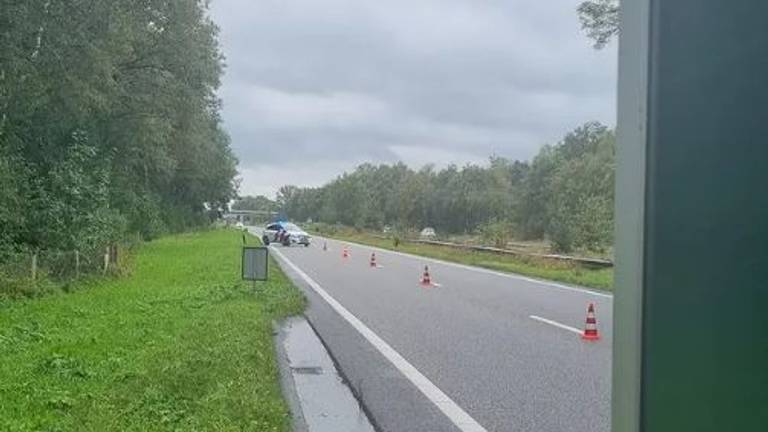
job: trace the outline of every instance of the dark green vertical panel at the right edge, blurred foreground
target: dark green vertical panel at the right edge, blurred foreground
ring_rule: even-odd
[[[768,2],[652,0],[649,52],[641,429],[768,431]]]

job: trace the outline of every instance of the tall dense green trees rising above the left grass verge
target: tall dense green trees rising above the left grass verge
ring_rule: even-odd
[[[205,0],[0,0],[0,258],[205,223],[235,196]]]

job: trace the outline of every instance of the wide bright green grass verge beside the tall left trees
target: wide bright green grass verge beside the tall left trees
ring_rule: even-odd
[[[287,431],[272,322],[305,300],[240,281],[242,234],[142,246],[130,276],[0,304],[0,430]]]

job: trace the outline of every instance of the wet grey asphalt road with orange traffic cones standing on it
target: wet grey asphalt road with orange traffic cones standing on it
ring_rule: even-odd
[[[281,266],[307,292],[307,318],[379,430],[610,430],[611,296],[327,242],[328,251],[316,238],[309,248],[273,246],[273,255],[293,264]],[[349,258],[342,258],[342,245],[349,245]],[[369,266],[372,252],[378,268]],[[440,286],[420,285],[425,264]],[[457,426],[304,276],[481,429]],[[574,331],[584,327],[589,303],[597,310],[597,342]]]

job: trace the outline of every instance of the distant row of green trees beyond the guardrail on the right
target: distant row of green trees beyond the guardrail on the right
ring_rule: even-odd
[[[430,226],[444,234],[506,231],[548,239],[558,251],[604,251],[613,242],[614,148],[613,130],[590,122],[530,162],[491,157],[487,165],[439,170],[363,164],[321,187],[283,186],[276,205],[301,221]]]

